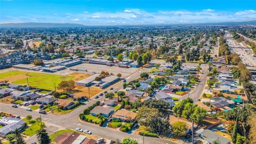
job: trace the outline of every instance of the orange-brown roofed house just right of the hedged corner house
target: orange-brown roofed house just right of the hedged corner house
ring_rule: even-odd
[[[119,109],[111,117],[115,119],[120,119],[121,121],[134,121],[137,116],[137,113],[126,109]]]

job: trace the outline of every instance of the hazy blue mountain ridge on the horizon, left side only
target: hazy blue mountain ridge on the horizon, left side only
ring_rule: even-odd
[[[50,27],[84,27],[77,23],[49,23],[49,22],[22,22],[22,23],[2,23],[1,28],[50,28]]]

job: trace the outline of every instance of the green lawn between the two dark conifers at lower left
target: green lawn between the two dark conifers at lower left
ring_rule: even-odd
[[[31,125],[31,126],[27,127],[27,129],[25,131],[22,132],[22,134],[28,135],[29,137],[31,137],[32,135],[36,134],[36,132],[41,127],[41,122],[37,122],[37,121],[35,121],[33,119],[31,119],[30,122],[26,118],[23,118],[22,120],[26,121],[26,123],[28,125]]]

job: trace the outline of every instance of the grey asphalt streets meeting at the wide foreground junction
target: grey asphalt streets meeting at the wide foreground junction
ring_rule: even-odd
[[[135,72],[134,74],[130,75],[129,77],[126,78],[127,82],[130,82],[134,79],[137,79],[140,77],[140,74],[148,71],[150,68],[143,68]],[[114,90],[121,90],[123,89],[123,82],[118,82],[112,86]],[[108,90],[109,91],[109,90]],[[78,115],[83,112],[83,110],[86,107],[89,107],[95,103],[95,101],[103,101],[105,98],[100,97],[98,99],[92,98],[90,101],[85,102],[84,106],[81,106],[77,108],[76,110],[72,111],[69,114],[66,115],[51,115],[51,114],[46,114],[46,115],[41,115],[37,111],[27,111],[26,109],[23,108],[13,108],[11,105],[6,105],[1,103],[0,105],[0,111],[4,111],[6,113],[18,115],[21,117],[26,117],[27,115],[33,116],[33,118],[37,117],[42,117],[42,121],[46,123],[46,125],[53,126],[54,129],[51,129],[51,132],[57,131],[59,129],[73,129],[75,130],[76,127],[81,127],[82,129],[87,129],[90,130],[93,135],[97,135],[98,137],[106,138],[106,139],[111,139],[111,140],[116,140],[116,139],[123,139],[125,137],[130,137],[134,138],[138,141],[138,143],[148,143],[148,144],[155,144],[155,143],[177,143],[172,142],[166,139],[161,139],[161,138],[152,138],[152,137],[144,137],[141,135],[137,134],[129,134],[129,133],[124,133],[118,130],[114,129],[109,129],[106,127],[101,127],[99,125],[91,124],[91,123],[86,123],[86,122],[81,122],[79,121]],[[57,129],[58,127],[58,129]],[[46,129],[49,129],[49,127],[46,127]],[[49,130],[50,131],[50,130]],[[34,142],[35,136],[29,138],[27,142],[31,143]],[[183,143],[183,142],[178,142],[178,143]]]

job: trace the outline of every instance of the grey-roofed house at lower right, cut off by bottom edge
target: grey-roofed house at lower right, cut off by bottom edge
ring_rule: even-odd
[[[215,132],[212,132],[210,130],[200,129],[196,131],[196,133],[199,135],[199,137],[203,138],[205,141],[209,142],[210,144],[213,144],[214,142],[221,143],[221,144],[231,143],[230,140],[228,140],[227,138]]]

